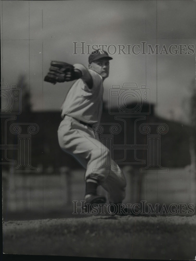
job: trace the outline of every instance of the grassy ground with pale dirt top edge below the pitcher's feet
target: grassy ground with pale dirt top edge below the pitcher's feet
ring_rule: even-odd
[[[194,260],[196,217],[91,216],[3,223],[3,252]]]

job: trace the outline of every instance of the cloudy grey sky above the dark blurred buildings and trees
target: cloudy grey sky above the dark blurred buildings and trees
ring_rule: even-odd
[[[180,44],[192,44],[192,55],[111,54],[103,96],[108,105],[112,85],[146,85],[158,116],[188,123],[190,90],[195,88],[195,5],[189,0],[0,1],[1,81],[11,87],[25,75],[33,111],[60,111],[73,82],[52,85],[43,78],[52,60],[88,67],[88,55],[80,50],[73,55],[74,41],[84,41],[85,46],[146,41],[153,47],[165,45],[167,50],[171,44],[177,49]]]

